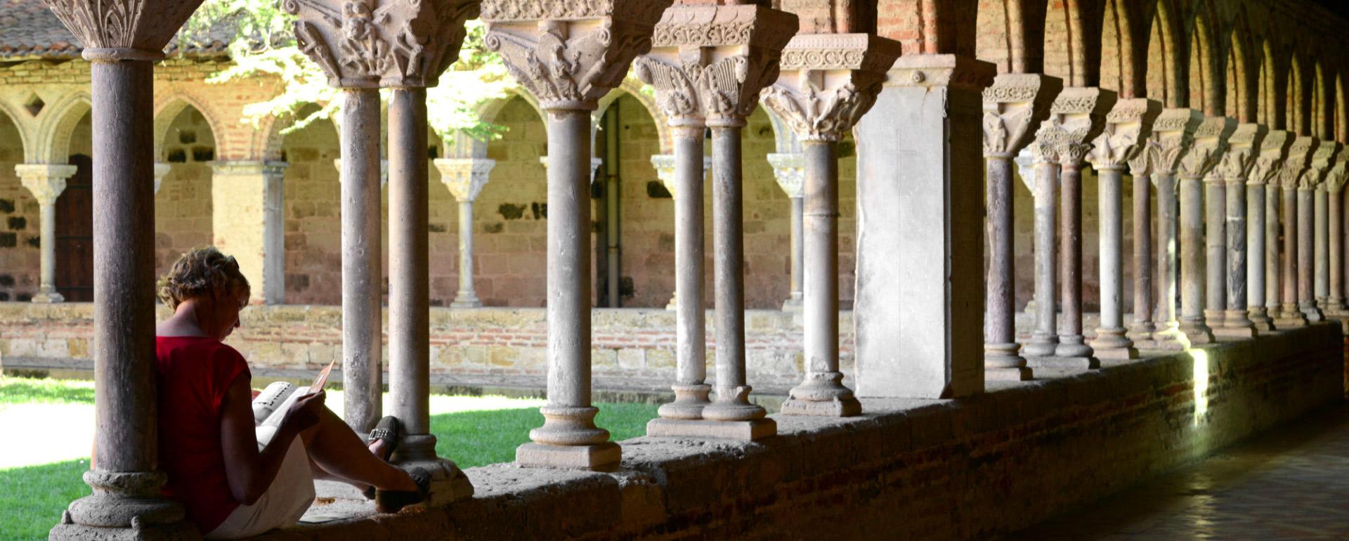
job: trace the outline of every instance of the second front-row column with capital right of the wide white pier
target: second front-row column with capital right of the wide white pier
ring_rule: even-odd
[[[1116,94],[1099,88],[1067,88],[1054,100],[1050,119],[1036,138],[1052,142],[1059,174],[1059,344],[1052,358],[1035,366],[1099,368],[1094,351],[1082,335],[1082,165],[1091,140],[1105,130],[1105,116]]]

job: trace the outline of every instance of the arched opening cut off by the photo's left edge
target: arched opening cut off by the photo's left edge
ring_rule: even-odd
[[[38,202],[13,170],[24,151],[19,125],[0,109],[0,302],[28,301],[38,291]]]

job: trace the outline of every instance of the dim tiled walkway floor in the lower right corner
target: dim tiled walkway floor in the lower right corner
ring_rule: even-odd
[[[1349,540],[1349,405],[1013,540]]]

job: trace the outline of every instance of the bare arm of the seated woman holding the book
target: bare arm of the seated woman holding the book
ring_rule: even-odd
[[[252,505],[262,498],[277,478],[290,443],[318,422],[316,410],[322,407],[322,393],[297,399],[277,434],[258,451],[248,376],[241,374],[235,379],[221,402],[220,443],[225,455],[225,479],[236,501]]]

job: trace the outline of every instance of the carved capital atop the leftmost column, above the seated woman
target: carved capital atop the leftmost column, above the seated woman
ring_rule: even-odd
[[[135,49],[161,55],[202,0],[46,0],[88,49]]]

